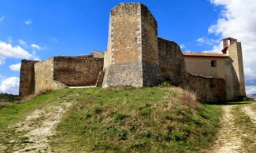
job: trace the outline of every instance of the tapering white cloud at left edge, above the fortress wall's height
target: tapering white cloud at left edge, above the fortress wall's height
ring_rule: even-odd
[[[22,49],[20,46],[12,46],[6,42],[0,41],[0,64],[4,64],[6,58],[32,58],[32,54]]]

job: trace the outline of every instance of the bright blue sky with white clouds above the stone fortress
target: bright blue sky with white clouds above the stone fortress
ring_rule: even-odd
[[[251,7],[254,10],[256,7],[253,8],[253,0],[0,2],[0,92],[5,93],[17,93],[20,59],[45,60],[50,56],[89,54],[93,49],[104,51],[108,37],[109,10],[120,2],[141,2],[147,5],[158,21],[158,35],[177,42],[183,51],[219,52],[221,38],[227,36],[238,38],[242,45],[247,46],[247,50],[251,50],[250,47],[254,45],[243,44],[243,41],[248,41],[246,32],[245,35],[240,34],[244,26],[238,30],[234,28],[233,31],[224,27],[228,22],[233,22],[237,14],[242,14],[240,20],[248,18],[247,12],[243,13],[242,10],[240,13],[237,8],[244,5],[244,8]],[[239,24],[239,19],[235,25]],[[255,35],[256,24],[249,23],[249,20],[252,19],[243,19],[243,22],[249,27],[254,26],[247,32],[254,32]],[[250,38],[250,41],[253,40]],[[250,53],[250,56],[256,56],[255,52]],[[249,93],[256,93],[256,62],[250,60],[247,63],[247,90],[250,88]]]

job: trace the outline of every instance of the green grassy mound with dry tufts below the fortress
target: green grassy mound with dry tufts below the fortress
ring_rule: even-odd
[[[214,139],[221,115],[219,107],[199,104],[194,94],[171,86],[59,89],[0,108],[0,128],[61,100],[75,103],[49,137],[56,152],[202,151]]]

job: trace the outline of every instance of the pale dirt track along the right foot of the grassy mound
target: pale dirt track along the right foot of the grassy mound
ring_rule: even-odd
[[[217,140],[209,152],[236,153],[242,151],[243,133],[235,126],[232,107],[234,106],[228,105],[222,107],[221,129],[217,133]]]

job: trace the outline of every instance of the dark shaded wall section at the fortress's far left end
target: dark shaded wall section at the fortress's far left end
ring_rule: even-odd
[[[21,60],[20,66],[20,99],[35,93],[35,60]]]

